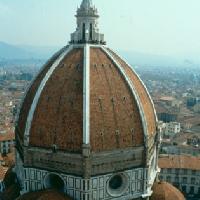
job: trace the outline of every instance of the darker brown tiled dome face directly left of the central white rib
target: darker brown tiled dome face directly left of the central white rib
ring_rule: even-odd
[[[73,49],[55,69],[40,96],[30,145],[80,152],[83,141],[83,49]]]

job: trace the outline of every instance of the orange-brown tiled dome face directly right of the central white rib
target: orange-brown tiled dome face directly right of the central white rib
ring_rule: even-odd
[[[143,144],[140,114],[130,89],[100,48],[90,49],[90,142],[95,152]]]

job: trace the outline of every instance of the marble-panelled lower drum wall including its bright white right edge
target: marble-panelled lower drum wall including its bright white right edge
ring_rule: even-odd
[[[151,188],[158,172],[157,149],[153,151],[150,158],[149,168],[115,171],[88,179],[55,171],[24,167],[18,151],[16,151],[16,157],[15,172],[22,187],[22,194],[47,189],[50,184],[48,177],[55,175],[63,182],[62,191],[75,200],[130,200],[141,197],[148,199],[152,194]],[[123,178],[123,184],[119,189],[113,190],[110,188],[110,181],[116,175]]]

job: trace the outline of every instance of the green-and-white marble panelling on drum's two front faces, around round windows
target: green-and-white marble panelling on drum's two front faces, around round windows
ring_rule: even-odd
[[[24,169],[24,184],[23,193],[29,191],[37,191],[45,188],[45,180],[51,172],[25,168]],[[56,173],[52,173],[56,174]],[[64,192],[74,199],[88,200],[106,200],[106,199],[135,199],[144,194],[147,182],[147,170],[138,168],[123,172],[127,180],[125,191],[119,197],[114,197],[110,193],[108,182],[113,174],[91,177],[90,179],[82,179],[73,175],[59,174],[62,177],[65,185]]]

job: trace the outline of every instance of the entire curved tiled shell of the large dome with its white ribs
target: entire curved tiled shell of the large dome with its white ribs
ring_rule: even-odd
[[[27,91],[16,126],[19,143],[81,153],[86,111],[93,152],[144,146],[156,134],[152,100],[131,67],[105,47],[91,45],[85,55],[85,45],[71,45],[47,62]]]

